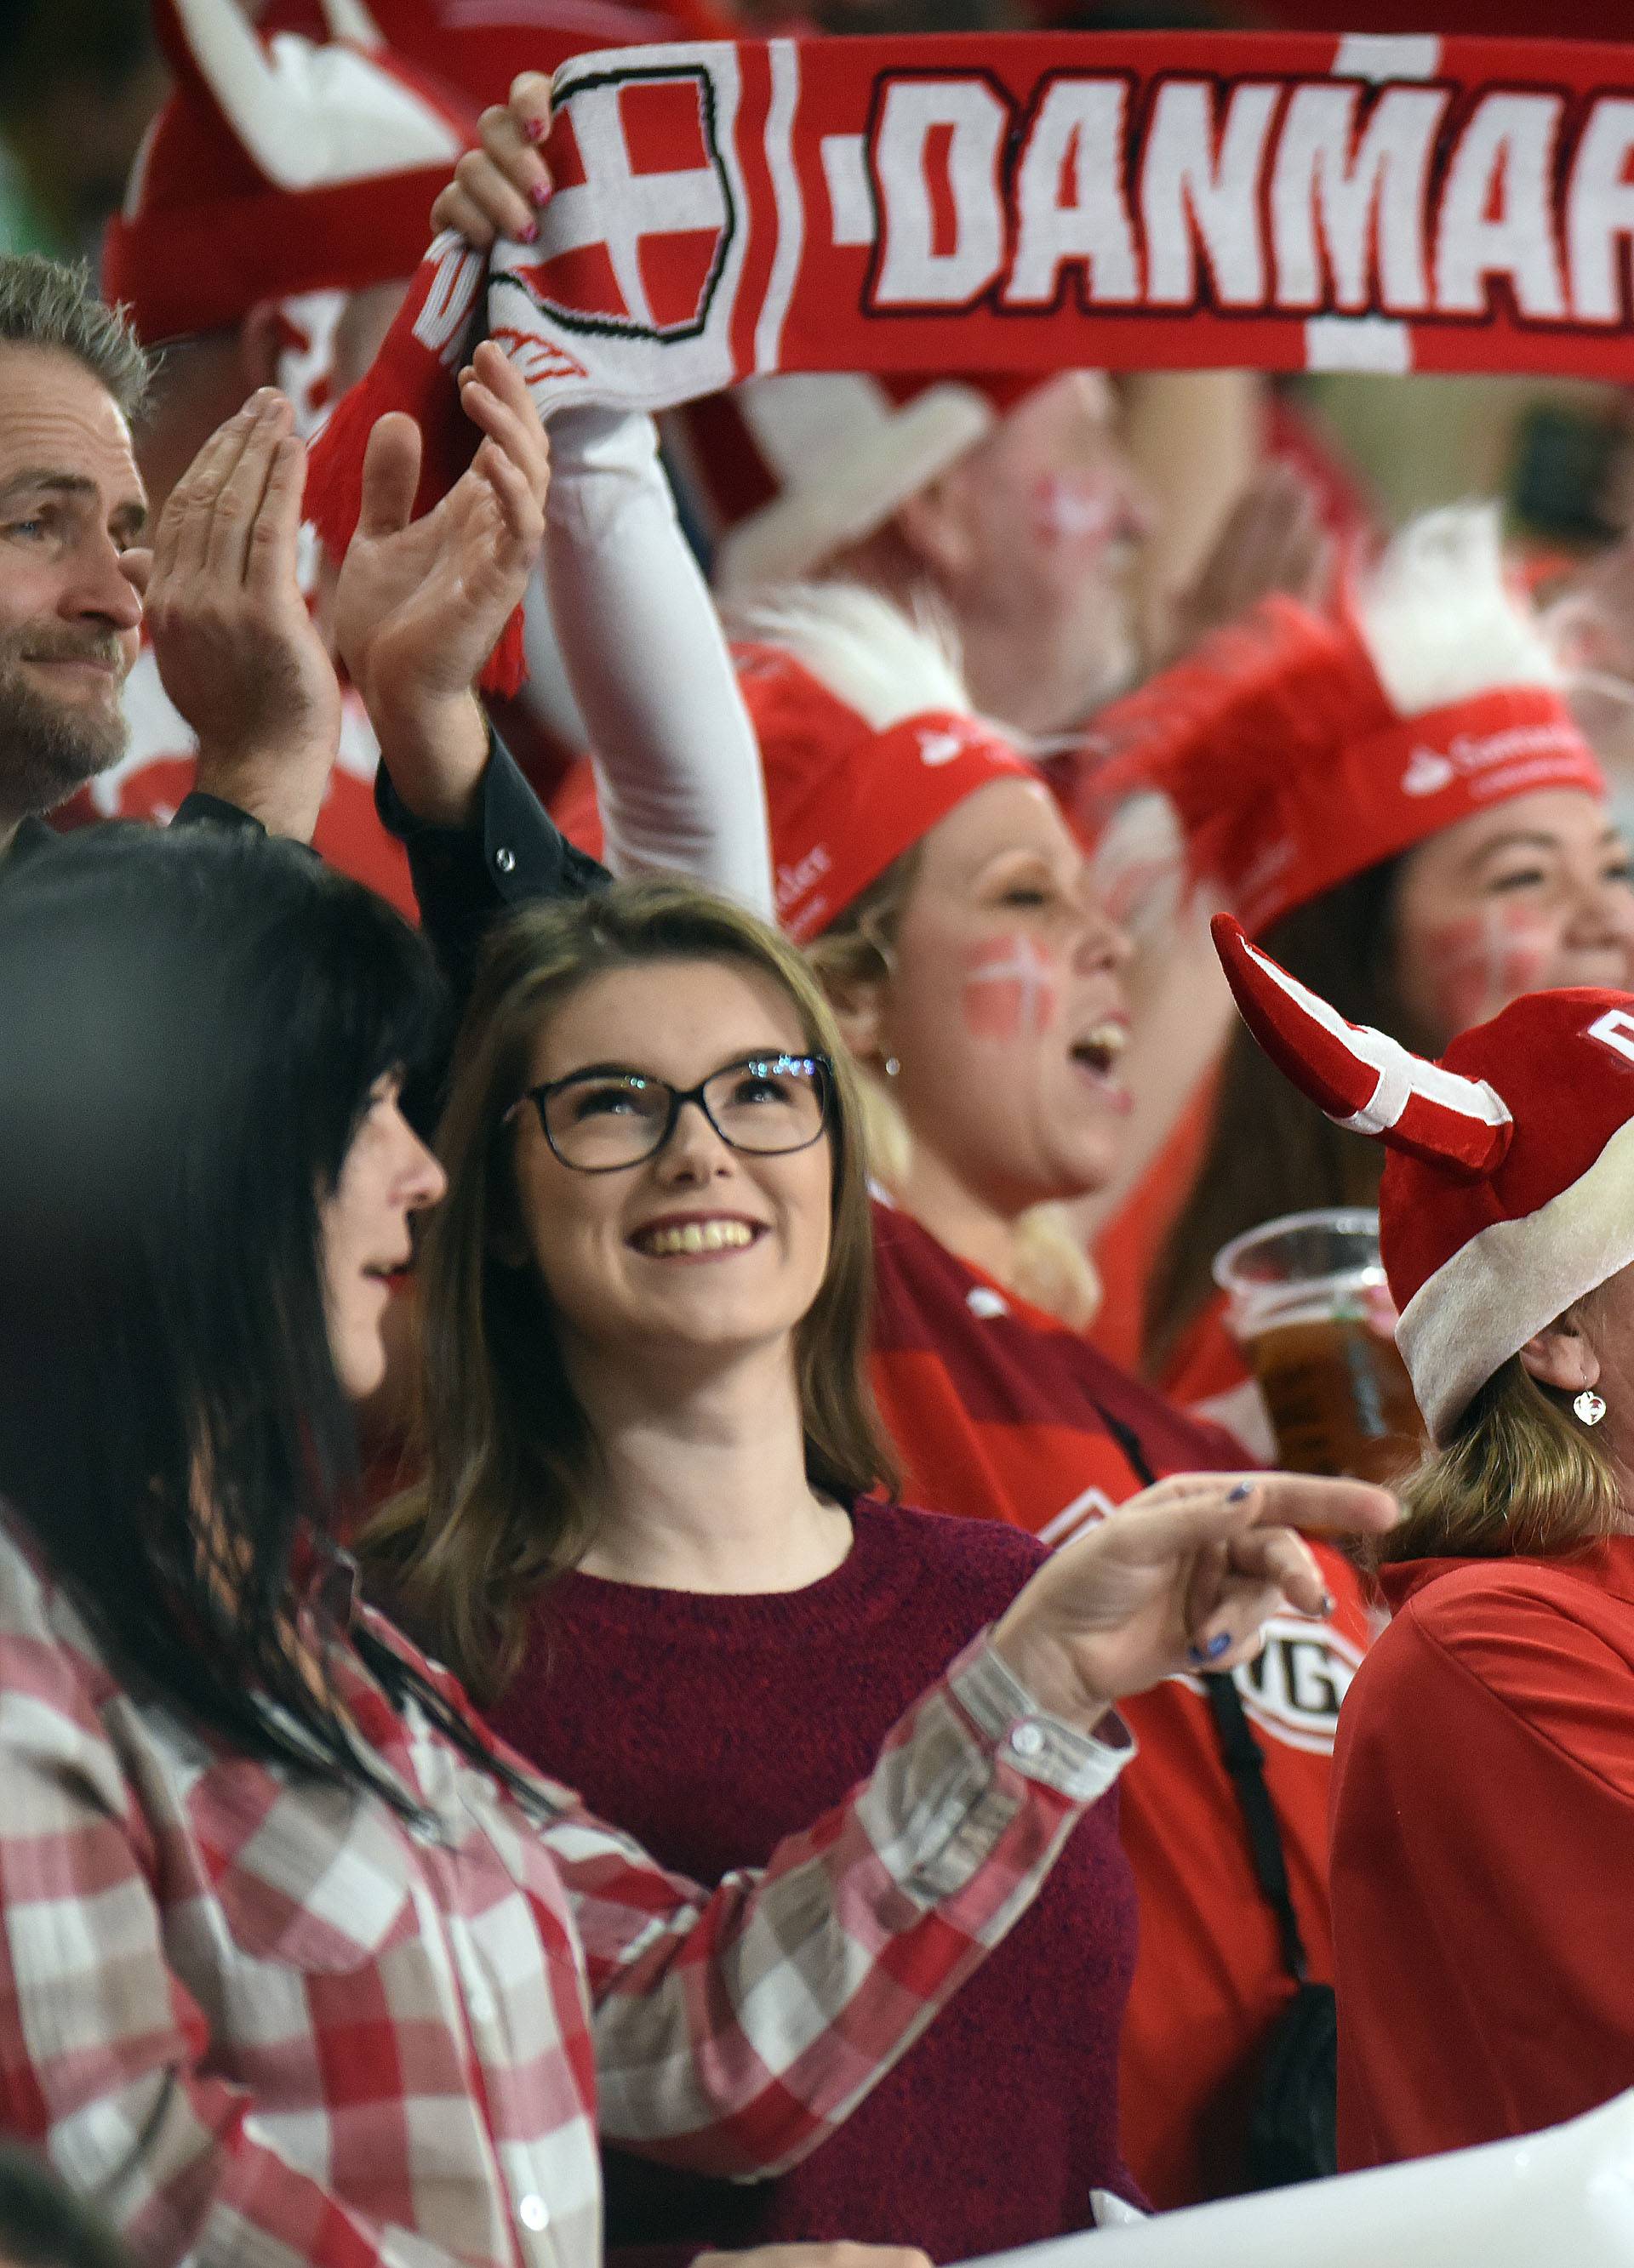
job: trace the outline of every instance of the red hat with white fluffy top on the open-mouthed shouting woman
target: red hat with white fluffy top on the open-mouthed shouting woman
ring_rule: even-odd
[[[874,592],[792,590],[733,628],[765,767],[776,914],[801,943],[978,787],[1037,778],[971,714],[946,646]]]

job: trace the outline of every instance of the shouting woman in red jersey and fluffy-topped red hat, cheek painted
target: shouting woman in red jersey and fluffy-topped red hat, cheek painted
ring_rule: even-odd
[[[529,134],[540,93],[542,82],[517,82],[517,107],[486,113],[488,159],[463,159],[461,197],[440,206],[474,243],[527,211],[508,200],[542,186]],[[610,515],[606,528],[615,524]],[[674,522],[656,515],[647,533],[640,572],[663,578],[667,542],[681,587],[690,565]],[[1128,1134],[1128,948],[1037,767],[971,714],[946,651],[869,590],[765,592],[738,628],[778,923],[808,948],[835,1005],[887,1193],[876,1207],[871,1377],[910,1495],[1062,1545],[1153,1476],[1239,1463],[1228,1436],[1085,1336],[1096,1284],[1062,1200],[1103,1188]],[[613,637],[604,662],[649,714],[654,701],[679,714],[645,646]],[[699,701],[681,708],[690,735],[738,730],[735,703],[713,723]],[[558,801],[556,816],[572,839],[592,839],[583,798],[574,810]],[[488,875],[495,898],[547,887],[556,837],[542,832],[531,846],[529,819],[515,814],[504,889]],[[449,1379],[479,1390],[504,1359],[499,1345],[483,1356],[470,1338],[438,1340]],[[438,1520],[454,1501],[445,1488]],[[1328,1780],[1368,1622],[1348,1563],[1319,1556],[1328,1608],[1278,1619],[1264,1660],[1232,1692],[1191,1676],[1137,1703],[1142,1753],[1121,1814],[1142,1955],[1121,2121],[1126,2157],[1164,2207],[1323,2161]],[[522,1574],[533,1565],[524,1558]],[[1244,1812],[1248,1742],[1287,1894],[1260,1808],[1253,1830]],[[1314,1994],[1298,1989],[1305,1975]],[[1330,2034],[1325,2053],[1330,2071]],[[1325,2112],[1330,2141],[1330,2080]],[[1046,2123],[1008,2123],[1008,2134],[1014,2191],[1030,2186],[1035,2200],[1028,2229],[1048,2234],[1062,2225],[1046,2218],[1051,2168],[1028,2155],[1048,2152]]]

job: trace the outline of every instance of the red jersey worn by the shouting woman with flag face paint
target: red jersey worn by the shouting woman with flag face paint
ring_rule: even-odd
[[[874,1250],[874,1390],[921,1501],[1060,1545],[1142,1488],[1137,1461],[1157,1476],[1241,1467],[1237,1442],[1169,1408],[906,1213],[878,1209]],[[1316,1551],[1332,1617],[1278,1615],[1237,1687],[1266,1753],[1312,1973],[1328,1978],[1328,1776],[1368,1622],[1355,1569]],[[1203,1685],[1169,1678],[1123,1715],[1139,1740],[1119,1799],[1139,1889],[1123,2157],[1155,2204],[1194,2204],[1237,2180],[1260,2050],[1294,1987]]]

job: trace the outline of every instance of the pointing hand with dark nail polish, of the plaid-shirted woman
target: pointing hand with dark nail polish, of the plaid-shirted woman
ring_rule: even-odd
[[[1160,1481],[1046,1560],[994,1644],[1042,1708],[1087,1730],[1176,1672],[1253,1660],[1269,1615],[1321,1615],[1321,1567],[1296,1529],[1382,1535],[1398,1517],[1364,1481]]]

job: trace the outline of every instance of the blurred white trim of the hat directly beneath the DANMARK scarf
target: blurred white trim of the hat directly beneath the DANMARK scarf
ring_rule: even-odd
[[[724,592],[812,574],[996,424],[992,401],[958,379],[899,406],[860,372],[749,379],[738,408],[781,494],[722,538],[715,583]]]

